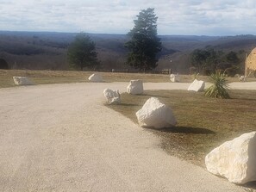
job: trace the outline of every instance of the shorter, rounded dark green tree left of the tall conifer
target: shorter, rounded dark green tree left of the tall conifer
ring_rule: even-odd
[[[68,47],[67,58],[73,68],[78,68],[81,71],[84,67],[92,69],[99,64],[95,43],[84,33],[78,34]]]

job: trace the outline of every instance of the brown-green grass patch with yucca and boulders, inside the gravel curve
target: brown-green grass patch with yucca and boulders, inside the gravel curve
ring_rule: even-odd
[[[143,95],[122,94],[122,104],[110,105],[137,123],[135,113],[151,96],[170,106],[178,121],[173,128],[145,129],[161,139],[172,155],[204,166],[204,157],[216,146],[242,133],[256,130],[256,90],[232,90],[222,100],[185,90],[150,90]]]

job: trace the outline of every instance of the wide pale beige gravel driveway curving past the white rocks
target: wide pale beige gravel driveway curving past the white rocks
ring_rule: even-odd
[[[103,106],[103,89],[126,86],[1,89],[0,191],[244,191],[166,154],[153,133]]]

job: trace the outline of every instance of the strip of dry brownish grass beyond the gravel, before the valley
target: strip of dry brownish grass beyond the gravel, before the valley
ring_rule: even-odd
[[[0,88],[15,86],[12,77],[29,77],[34,84],[66,84],[88,82],[88,77],[94,71],[30,71],[30,70],[0,70]],[[168,74],[118,73],[100,72],[105,82],[128,82],[131,79],[141,79],[143,82],[170,82]],[[180,81],[190,83],[192,75],[181,75]],[[200,80],[209,81],[206,76],[199,76]],[[238,81],[228,78],[229,82]]]

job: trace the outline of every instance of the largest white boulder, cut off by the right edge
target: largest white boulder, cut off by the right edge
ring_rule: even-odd
[[[256,132],[245,133],[215,148],[205,157],[209,172],[232,183],[256,181]]]

